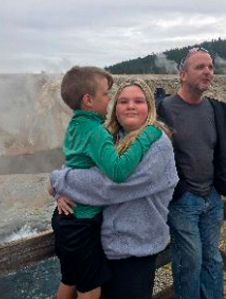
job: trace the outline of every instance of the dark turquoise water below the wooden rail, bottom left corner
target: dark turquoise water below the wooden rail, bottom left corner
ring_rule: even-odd
[[[8,275],[0,275],[0,298],[45,299],[56,292],[59,283],[59,260],[51,257]]]

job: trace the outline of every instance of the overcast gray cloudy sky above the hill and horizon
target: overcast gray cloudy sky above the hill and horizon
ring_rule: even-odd
[[[225,28],[225,0],[0,0],[0,72],[105,67]]]

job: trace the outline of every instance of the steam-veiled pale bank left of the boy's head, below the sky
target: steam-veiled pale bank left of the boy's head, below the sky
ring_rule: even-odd
[[[70,109],[61,76],[0,75],[0,156],[59,148]]]

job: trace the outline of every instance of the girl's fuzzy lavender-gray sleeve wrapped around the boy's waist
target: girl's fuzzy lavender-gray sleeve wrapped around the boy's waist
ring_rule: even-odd
[[[97,167],[55,170],[51,183],[57,194],[93,206],[122,203],[174,188],[178,176],[172,146],[166,138],[161,137],[152,146],[123,183],[114,183]]]

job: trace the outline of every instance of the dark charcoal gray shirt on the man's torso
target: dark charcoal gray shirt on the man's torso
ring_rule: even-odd
[[[179,178],[201,196],[213,184],[213,156],[217,134],[212,105],[207,99],[189,104],[178,94],[163,100],[160,117],[173,129],[173,147]]]

